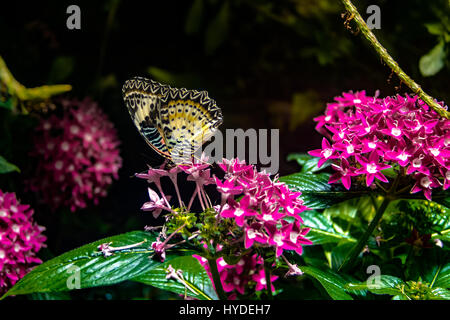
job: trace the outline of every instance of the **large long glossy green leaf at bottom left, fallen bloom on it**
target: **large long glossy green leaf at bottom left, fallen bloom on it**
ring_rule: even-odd
[[[98,250],[98,246],[104,243],[112,242],[111,246],[121,247],[142,241],[145,242],[140,246],[116,251],[109,257],[104,257]],[[37,266],[2,298],[34,292],[68,291],[77,286],[78,276],[78,289],[112,285],[135,278],[161,265],[161,262],[150,258],[153,254],[150,246],[154,241],[155,235],[134,231],[84,245]],[[183,249],[168,250],[166,261],[192,253]]]

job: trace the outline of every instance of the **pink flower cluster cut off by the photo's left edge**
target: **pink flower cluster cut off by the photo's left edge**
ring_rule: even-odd
[[[44,227],[32,219],[29,205],[14,193],[0,190],[0,296],[25,276],[33,264],[42,263],[36,253],[44,247]]]

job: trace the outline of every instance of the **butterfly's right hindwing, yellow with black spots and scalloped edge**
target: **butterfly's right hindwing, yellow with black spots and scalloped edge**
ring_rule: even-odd
[[[206,91],[171,88],[161,98],[157,127],[173,162],[183,164],[222,123],[222,112]]]

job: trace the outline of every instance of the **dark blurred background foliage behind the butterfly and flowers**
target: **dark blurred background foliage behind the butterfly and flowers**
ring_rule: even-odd
[[[71,4],[81,8],[81,30],[66,27]],[[448,103],[448,0],[354,4],[365,19],[369,5],[380,7],[381,29],[374,30],[380,42],[426,92]],[[343,12],[337,0],[2,4],[0,56],[17,82],[23,88],[65,83],[72,86],[66,96],[91,96],[114,122],[122,141],[120,180],[99,206],[75,214],[35,207],[36,220],[48,229],[44,255],[152,223],[139,210],[147,197],[146,183],[130,177],[161,159],[140,138],[123,105],[121,86],[132,76],[208,90],[223,110],[222,130],[279,128],[281,175],[299,168],[286,160],[287,154],[320,145],[312,118],[334,96],[348,90],[375,94],[379,89],[381,96],[407,92],[367,42],[346,30]],[[2,83],[0,93],[4,91]],[[7,161],[18,167],[0,176],[0,187],[34,203],[22,181],[32,172],[27,157],[36,119],[11,112],[11,97],[0,96],[0,155],[5,157],[0,169]],[[25,110],[46,111],[46,98],[25,104]],[[128,289],[89,294],[123,298]],[[146,290],[143,297],[162,297]]]

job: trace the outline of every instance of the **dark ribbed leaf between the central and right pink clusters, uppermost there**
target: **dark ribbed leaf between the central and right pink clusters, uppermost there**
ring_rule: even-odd
[[[347,191],[339,185],[328,184],[328,173],[294,173],[280,178],[291,190],[301,191],[305,206],[311,209],[325,209],[341,201],[360,197],[367,192]]]

